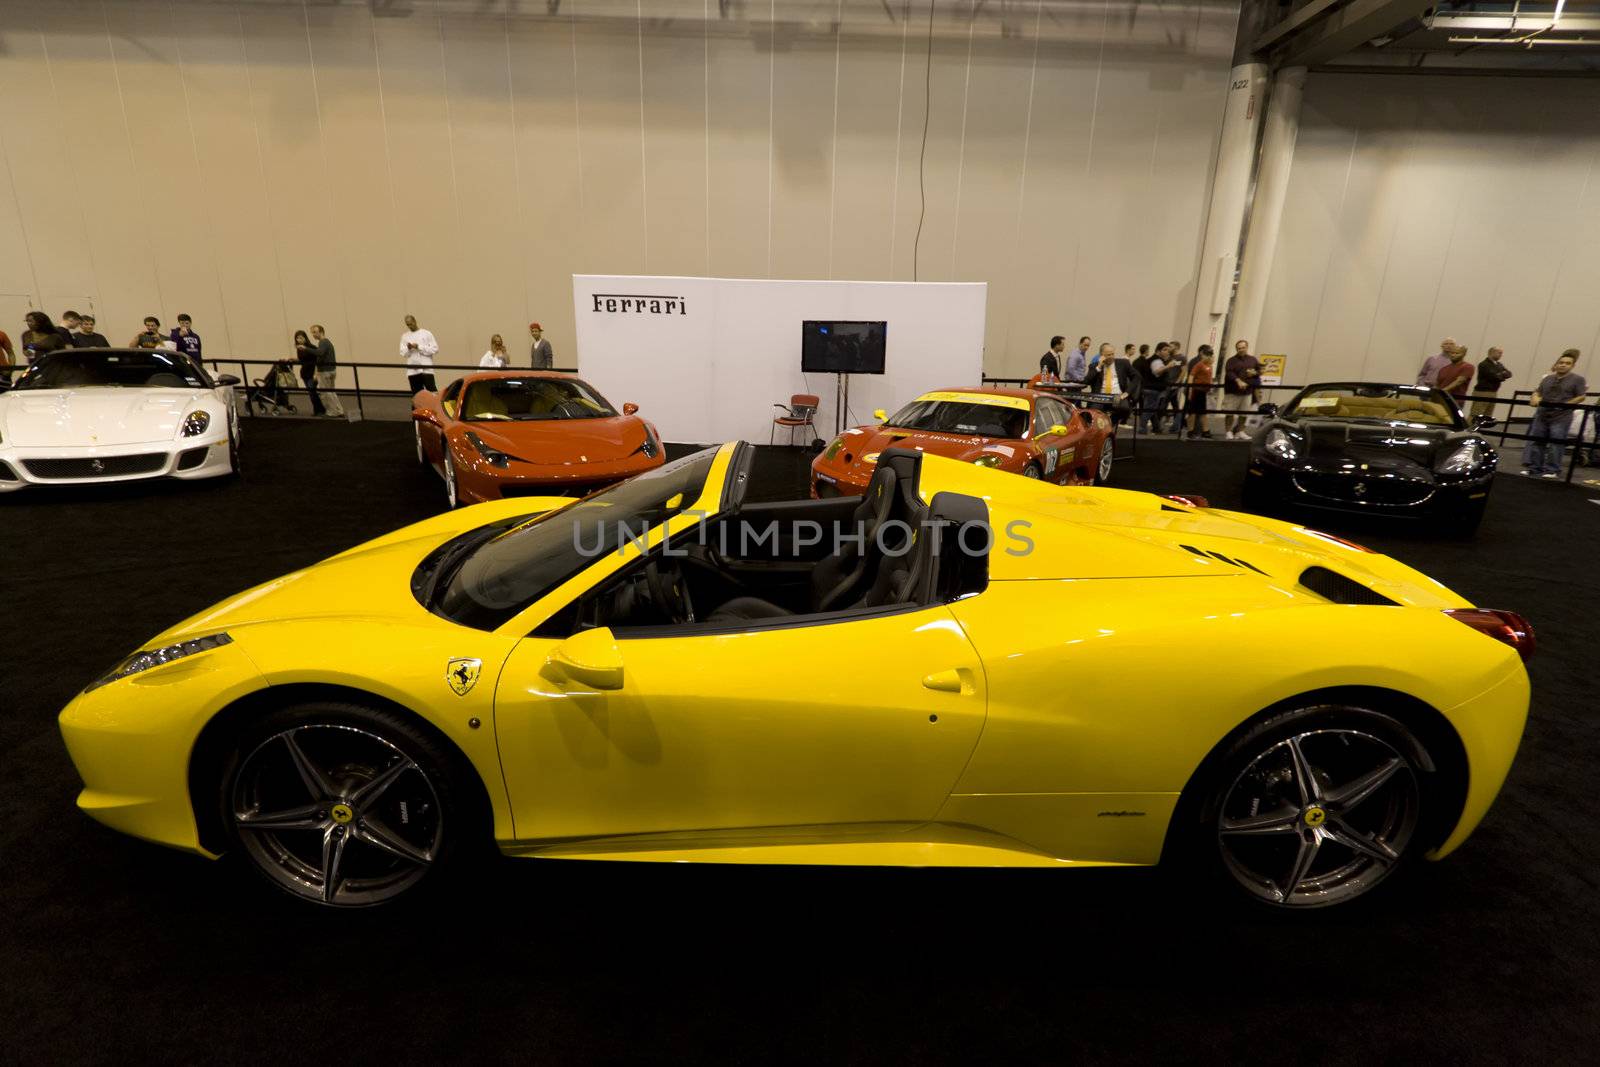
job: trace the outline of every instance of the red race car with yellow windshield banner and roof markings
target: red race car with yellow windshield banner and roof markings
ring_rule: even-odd
[[[1104,411],[1037,389],[939,389],[882,426],[845,430],[811,462],[811,496],[859,496],[885,448],[997,467],[1059,485],[1104,485],[1115,435]]]

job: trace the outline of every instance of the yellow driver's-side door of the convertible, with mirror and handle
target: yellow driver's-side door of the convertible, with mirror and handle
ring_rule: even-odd
[[[971,643],[944,606],[811,619],[525,638],[494,709],[517,837],[931,819],[984,723]]]

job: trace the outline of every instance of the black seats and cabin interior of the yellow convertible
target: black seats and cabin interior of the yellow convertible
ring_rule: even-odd
[[[736,507],[624,566],[538,633],[749,630],[981,592],[987,506],[955,493],[925,504],[920,466],[920,453],[888,450],[859,498]]]

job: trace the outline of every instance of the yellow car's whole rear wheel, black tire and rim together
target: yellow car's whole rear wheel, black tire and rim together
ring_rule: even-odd
[[[1429,846],[1434,777],[1422,742],[1390,715],[1282,712],[1206,761],[1179,806],[1174,853],[1202,886],[1264,907],[1354,902]],[[1314,785],[1301,792],[1304,781]]]

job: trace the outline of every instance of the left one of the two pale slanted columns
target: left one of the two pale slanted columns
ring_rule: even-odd
[[[1222,115],[1222,138],[1211,179],[1211,210],[1206,214],[1200,269],[1195,275],[1195,314],[1189,326],[1189,352],[1202,344],[1218,349],[1234,298],[1234,269],[1245,229],[1245,205],[1256,162],[1256,133],[1267,90],[1267,67],[1246,62],[1234,67]],[[1221,357],[1222,354],[1218,352]]]

